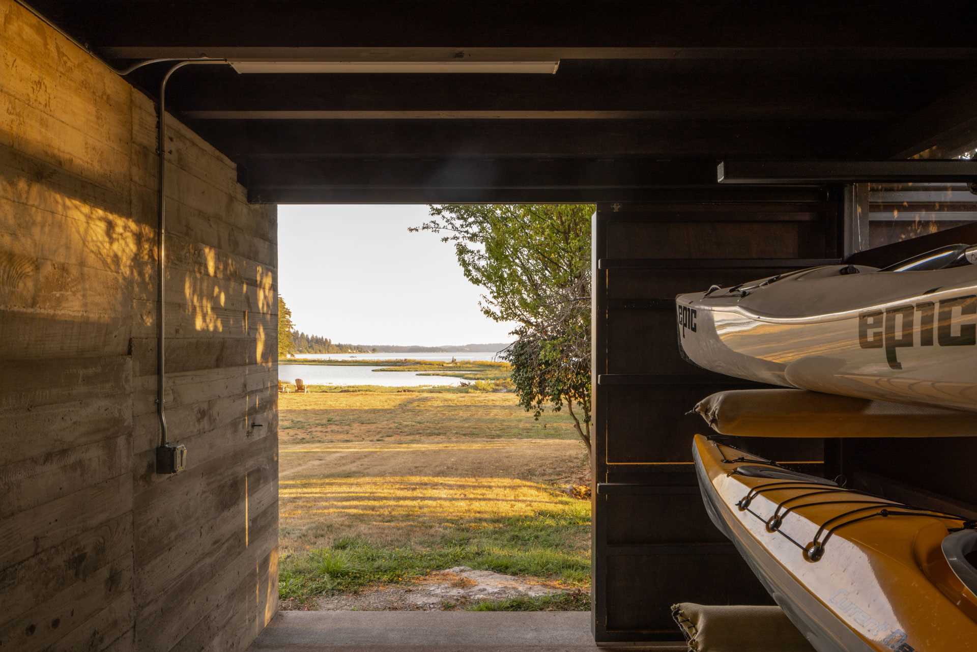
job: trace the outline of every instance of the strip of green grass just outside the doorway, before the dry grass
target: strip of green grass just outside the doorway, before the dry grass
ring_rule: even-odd
[[[445,536],[413,546],[382,546],[346,538],[330,547],[287,555],[280,564],[279,594],[283,599],[306,602],[330,592],[408,582],[452,566],[586,587],[590,579],[590,503],[573,500],[569,504],[559,511],[455,528]],[[523,603],[522,609],[529,609],[531,604]],[[519,605],[496,606],[518,610]],[[479,609],[490,610],[490,606]]]

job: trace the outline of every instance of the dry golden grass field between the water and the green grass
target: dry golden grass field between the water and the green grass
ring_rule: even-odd
[[[279,410],[284,552],[528,515],[585,464],[568,416],[535,421],[512,394],[283,394]]]

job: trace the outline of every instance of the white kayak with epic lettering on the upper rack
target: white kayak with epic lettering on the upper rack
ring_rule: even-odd
[[[977,412],[977,246],[676,297],[691,362],[828,394]]]

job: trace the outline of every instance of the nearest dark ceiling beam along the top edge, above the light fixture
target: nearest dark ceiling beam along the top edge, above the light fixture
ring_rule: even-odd
[[[853,3],[823,0],[797,11],[786,2],[581,3],[571,10],[552,0],[458,3],[376,0],[332,3],[292,0],[32,0],[55,21],[77,30],[93,47],[549,47],[656,48],[673,57],[685,50],[847,49],[845,59],[916,51],[932,56],[973,47],[977,7],[944,0],[920,11],[911,0]],[[948,18],[950,17],[950,18]],[[866,28],[871,25],[870,28]],[[72,32],[73,33],[73,32]],[[898,44],[893,48],[893,44]],[[911,44],[913,47],[907,47]],[[868,48],[866,50],[865,48]],[[918,48],[918,50],[916,50]],[[216,52],[216,50],[214,50]],[[146,51],[144,51],[146,52]],[[211,54],[208,52],[208,54]],[[643,55],[643,56],[648,56]],[[810,56],[810,55],[809,55]],[[816,55],[815,55],[816,56]]]

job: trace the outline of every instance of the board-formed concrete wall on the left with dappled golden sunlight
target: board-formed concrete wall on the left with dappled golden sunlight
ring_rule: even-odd
[[[2,650],[243,649],[276,611],[276,209],[168,124],[160,476],[153,104],[0,0]]]

